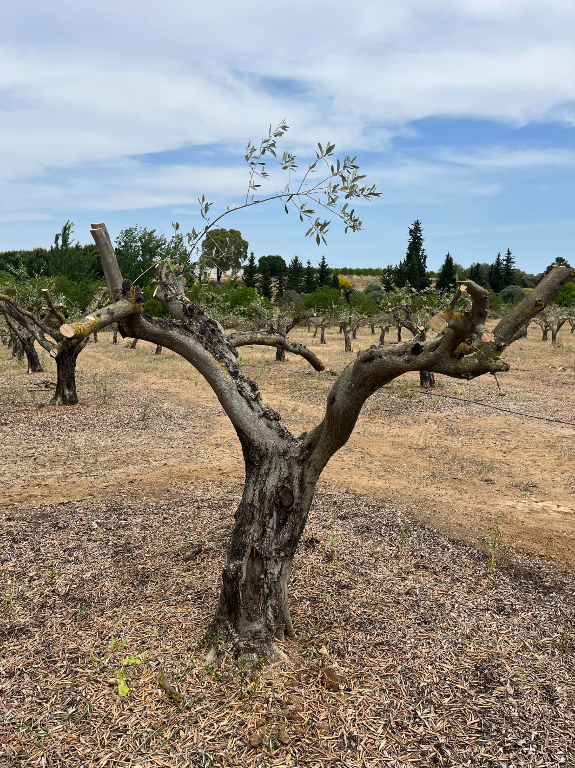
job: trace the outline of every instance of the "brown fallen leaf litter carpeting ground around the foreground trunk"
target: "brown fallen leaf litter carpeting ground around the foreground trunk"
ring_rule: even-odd
[[[489,577],[485,555],[326,482],[289,661],[257,682],[206,667],[240,492],[196,480],[2,515],[0,765],[575,764],[569,582]]]

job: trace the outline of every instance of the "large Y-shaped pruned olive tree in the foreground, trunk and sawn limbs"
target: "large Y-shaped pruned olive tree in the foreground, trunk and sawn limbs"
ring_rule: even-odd
[[[284,165],[289,166],[285,155]],[[349,184],[347,179],[338,188],[347,187],[347,191]],[[156,320],[144,312],[139,291],[123,280],[105,225],[94,224],[91,233],[113,303],[76,323],[74,338],[80,341],[94,329],[121,319],[128,336],[160,344],[188,360],[212,387],[238,435],[245,485],[211,634],[216,647],[243,652],[252,660],[278,657],[274,637],[294,637],[288,584],[297,544],[321,472],[346,444],[366,399],[409,371],[472,379],[508,370],[501,360],[505,347],[573,276],[573,270],[566,267],[550,272],[501,319],[492,341],[483,340],[488,291],[471,281],[460,283],[441,313],[442,333],[426,341],[372,346],[358,354],[330,389],[321,422],[311,432],[292,435],[281,424],[280,415],[262,402],[257,383],[244,375],[235,346],[221,324],[186,298],[184,281],[172,266],[156,266],[159,284],[155,295],[171,318]],[[458,311],[458,299],[465,292],[471,296],[471,307]]]

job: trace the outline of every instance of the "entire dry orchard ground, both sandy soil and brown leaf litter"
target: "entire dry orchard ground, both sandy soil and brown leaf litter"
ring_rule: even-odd
[[[366,403],[297,554],[299,639],[257,682],[202,657],[243,470],[203,379],[104,333],[52,409],[53,362],[0,348],[0,765],[575,764],[575,336],[539,336],[501,392],[412,374]],[[321,418],[329,373],[240,351],[288,429]]]

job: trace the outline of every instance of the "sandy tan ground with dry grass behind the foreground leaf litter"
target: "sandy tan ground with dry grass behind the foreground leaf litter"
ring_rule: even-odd
[[[327,345],[307,329],[295,339],[334,370],[352,358],[335,329]],[[361,329],[354,353],[373,342]],[[478,400],[499,409],[575,422],[575,336],[563,330],[558,349],[539,329],[505,356],[511,372],[473,382],[439,377],[441,396]],[[296,356],[274,361],[274,350],[243,348],[241,364],[261,385],[265,402],[292,432],[321,419],[334,381]],[[167,485],[192,478],[241,484],[243,462],[235,433],[202,377],[164,350],[140,342],[113,346],[100,334],[78,362],[81,404],[45,407],[50,393],[0,348],[0,505],[17,508],[72,499],[137,493],[155,498]],[[407,382],[407,386],[406,386]],[[485,548],[496,523],[504,544],[558,564],[575,564],[575,427],[435,397],[413,374],[377,392],[363,409],[347,445],[321,483],[409,511],[453,538]]]

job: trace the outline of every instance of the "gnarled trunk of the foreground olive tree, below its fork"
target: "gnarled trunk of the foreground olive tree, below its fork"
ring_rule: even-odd
[[[256,659],[278,653],[274,637],[294,637],[288,584],[317,477],[290,451],[245,450],[245,487],[212,622],[216,646]]]

